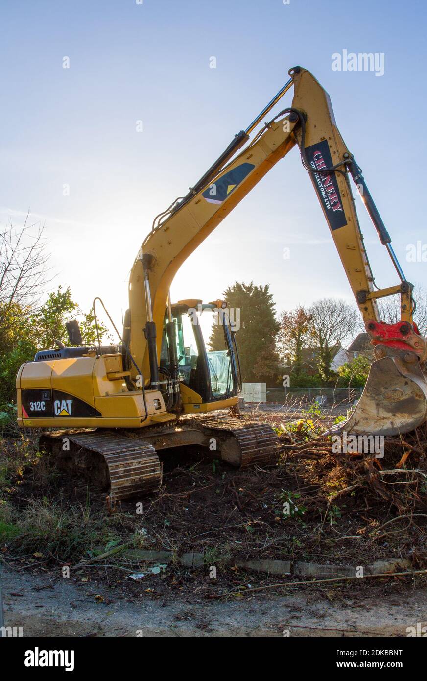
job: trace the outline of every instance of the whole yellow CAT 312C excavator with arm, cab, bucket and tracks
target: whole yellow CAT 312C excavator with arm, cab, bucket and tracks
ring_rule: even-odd
[[[72,321],[69,347],[57,342],[58,347],[37,352],[20,367],[19,425],[63,429],[45,431],[41,446],[70,471],[110,486],[110,503],[157,490],[157,452],[163,450],[199,445],[234,466],[276,462],[272,428],[232,415],[240,372],[236,328],[226,303],[195,298],[172,304],[169,291],[185,259],[296,145],[375,346],[362,397],[341,430],[397,434],[427,417],[427,340],[413,323],[413,285],[336,127],[328,93],[302,67],[290,69],[289,76],[187,195],[155,218],[131,270],[123,334],[112,324],[120,345],[101,345],[98,333],[97,344],[83,346]],[[259,127],[291,86],[291,107]],[[375,285],[349,176],[392,259],[399,280],[394,286]],[[400,296],[400,321],[383,323],[377,300],[393,295]],[[96,298],[96,322],[99,306],[104,303]],[[210,325],[201,317],[208,315],[223,328],[221,350],[205,343],[203,329]]]

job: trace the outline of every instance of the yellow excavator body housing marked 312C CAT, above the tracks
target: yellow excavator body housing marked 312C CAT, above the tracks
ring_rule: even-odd
[[[145,418],[141,390],[127,389],[120,353],[99,357],[27,362],[16,378],[18,425],[25,428],[142,428],[176,421],[168,414],[159,390],[146,390]],[[232,407],[237,397],[202,403],[181,385],[183,413],[206,413]],[[29,416],[29,405],[33,407]]]

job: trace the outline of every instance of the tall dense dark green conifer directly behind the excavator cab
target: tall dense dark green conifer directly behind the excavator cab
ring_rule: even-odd
[[[236,281],[223,293],[229,308],[234,308],[234,319],[239,319],[236,333],[242,381],[267,382],[279,370],[275,337],[279,324],[274,317],[274,302],[269,285],[255,285]],[[209,338],[211,350],[224,347],[223,329],[214,326]]]

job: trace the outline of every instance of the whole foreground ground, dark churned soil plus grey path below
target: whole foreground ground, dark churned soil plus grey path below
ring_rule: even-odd
[[[274,412],[257,417],[278,426]],[[271,469],[170,451],[160,492],[123,501],[112,515],[105,492],[84,479],[40,458],[15,466],[1,544],[7,624],[24,635],[405,636],[427,619],[426,575],[287,586],[296,578],[241,565],[409,558],[413,569],[427,567],[427,430],[388,441],[381,464],[334,455],[305,428],[282,435]],[[14,446],[3,444],[1,455],[10,459]],[[174,558],[152,569],[139,550]],[[180,565],[186,552],[204,554],[204,565]]]

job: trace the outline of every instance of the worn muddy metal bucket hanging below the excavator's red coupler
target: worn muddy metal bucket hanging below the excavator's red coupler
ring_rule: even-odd
[[[334,432],[396,435],[427,419],[427,375],[413,352],[388,351],[374,360],[362,396]]]

